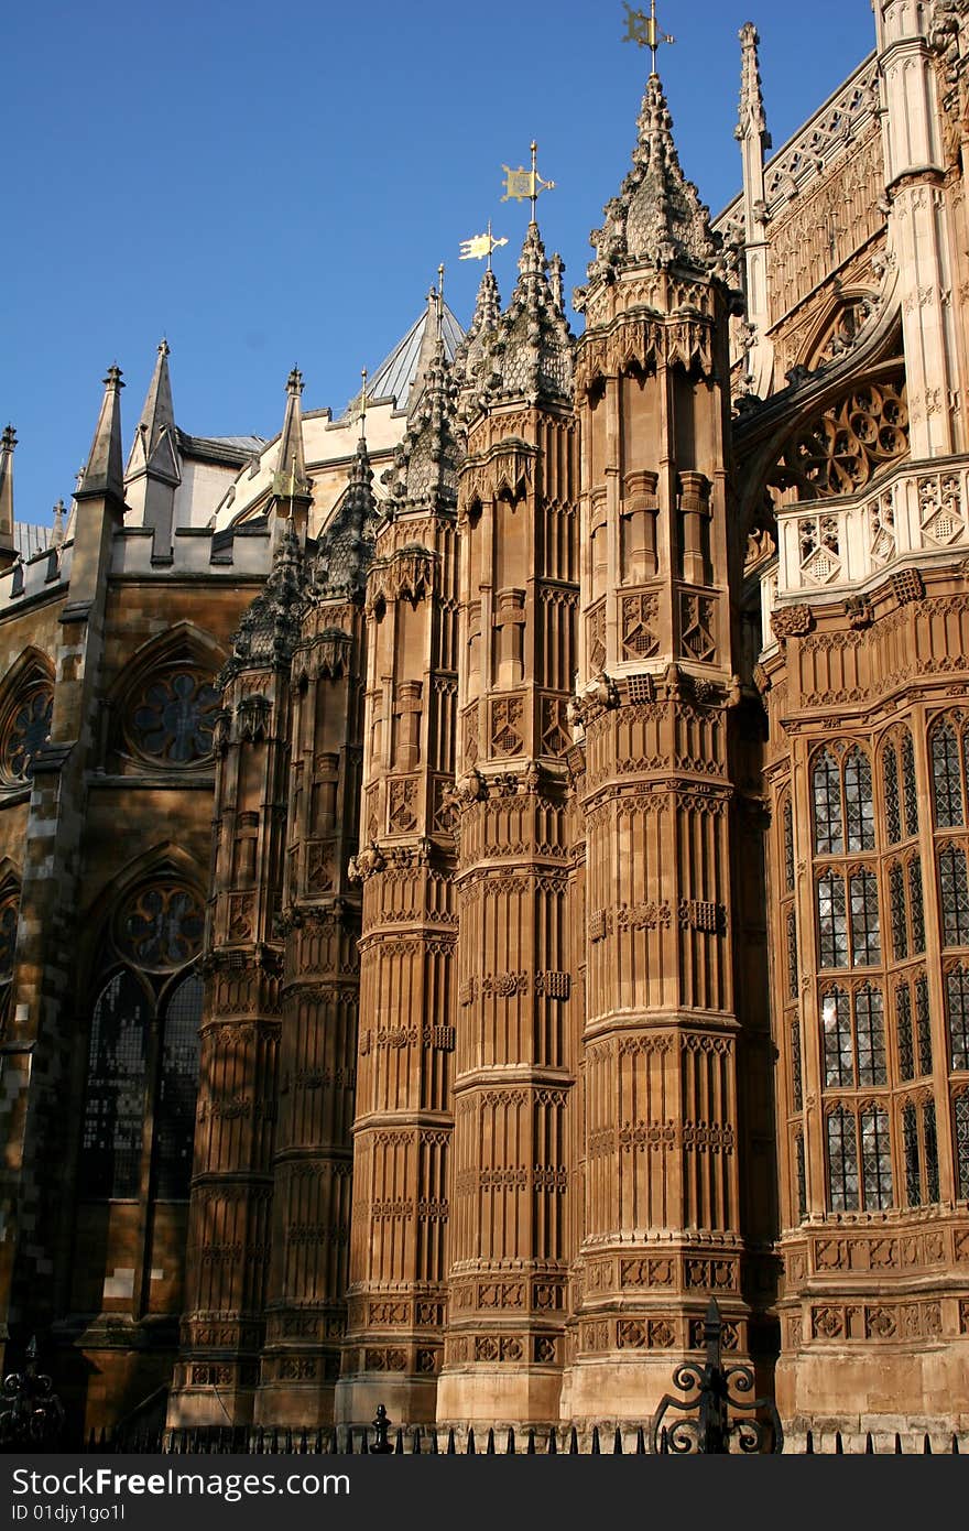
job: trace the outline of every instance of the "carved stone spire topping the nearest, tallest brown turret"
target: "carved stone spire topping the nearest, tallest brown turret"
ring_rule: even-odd
[[[712,271],[716,263],[709,210],[680,167],[672,118],[655,73],[646,84],[637,127],[632,170],[620,194],[606,204],[603,227],[591,236],[591,283],[612,282],[625,266],[640,263],[693,271]]]

